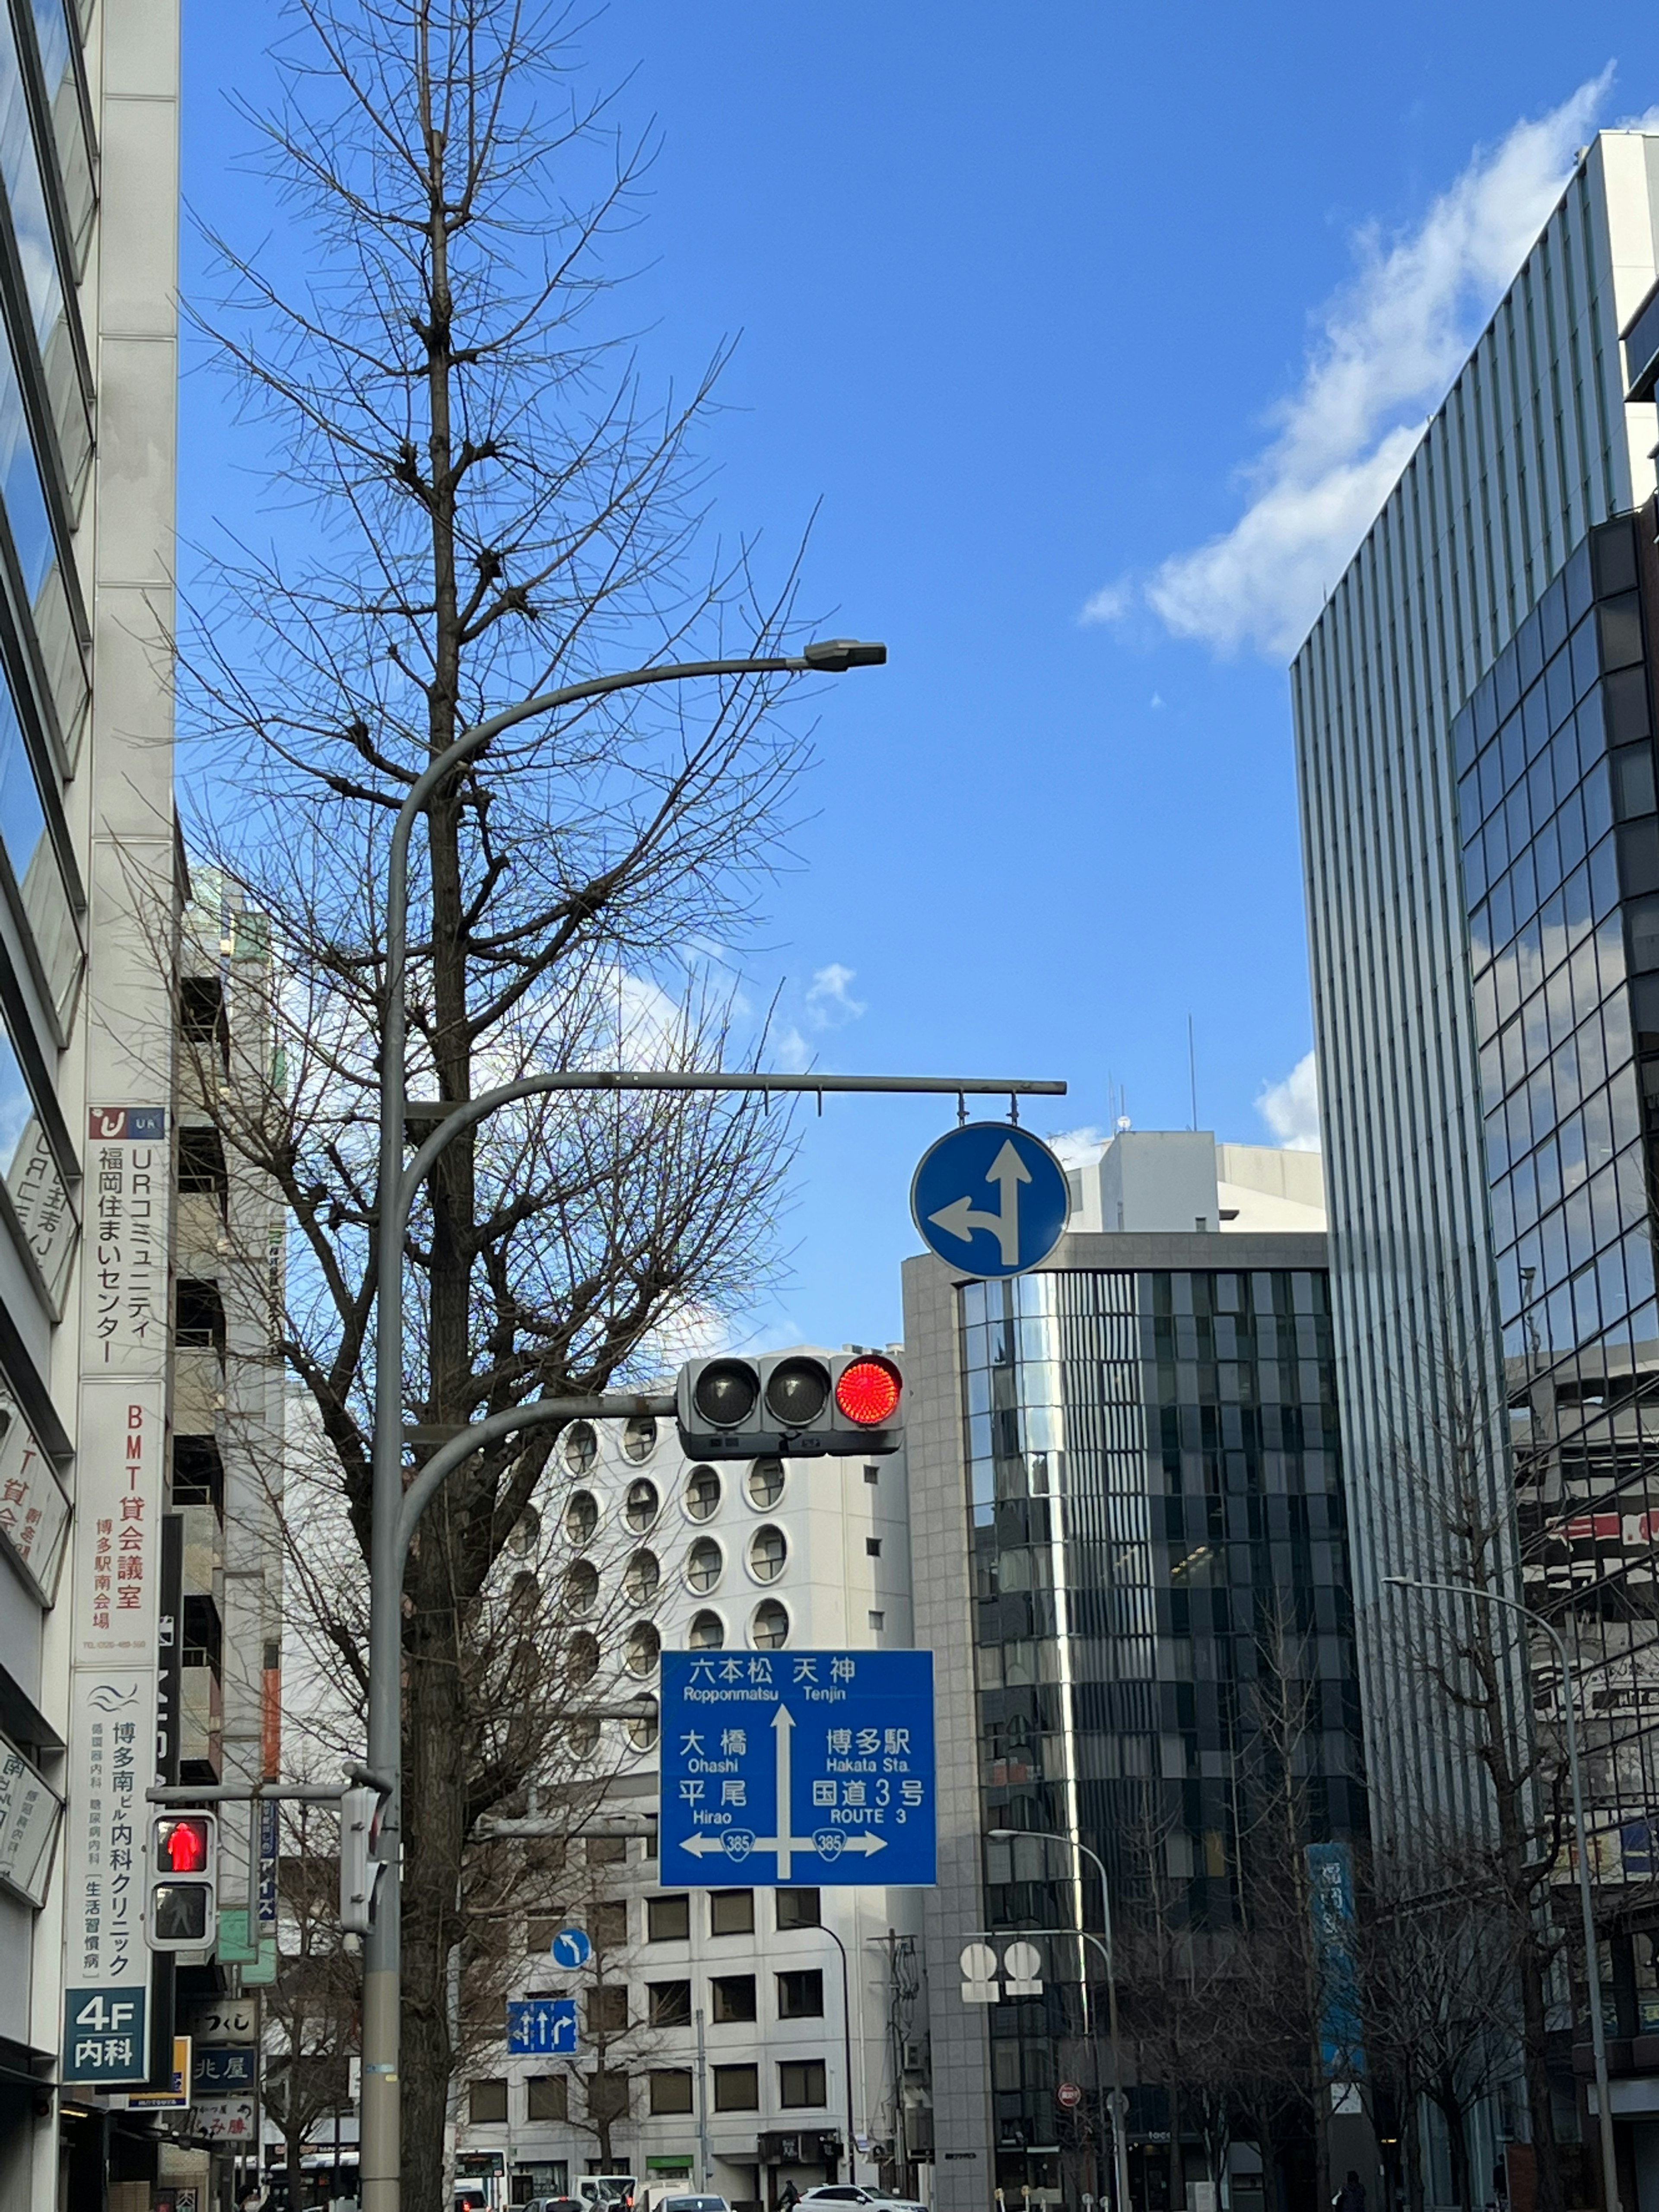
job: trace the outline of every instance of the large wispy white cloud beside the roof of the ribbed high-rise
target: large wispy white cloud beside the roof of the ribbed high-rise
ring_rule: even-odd
[[[1175,637],[1219,653],[1296,650],[1544,228],[1610,80],[1608,66],[1478,148],[1416,230],[1360,232],[1358,274],[1323,310],[1301,387],[1245,471],[1241,520],[1170,555],[1139,591],[1108,584],[1086,622],[1121,622],[1144,599]]]

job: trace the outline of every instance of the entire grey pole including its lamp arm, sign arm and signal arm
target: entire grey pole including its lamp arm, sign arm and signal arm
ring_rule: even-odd
[[[1057,1097],[1060,1082],[991,1082],[984,1077],[929,1075],[726,1075],[726,1073],[595,1073],[564,1071],[504,1084],[478,1099],[453,1106],[407,1099],[407,1009],[405,971],[409,936],[409,841],[427,801],[460,765],[476,759],[491,739],[522,721],[648,684],[681,684],[692,677],[741,675],[841,675],[878,666],[885,646],[823,639],[803,653],[730,661],[684,661],[633,668],[624,675],[566,684],[562,690],[524,699],[465,730],[409,785],[392,827],[385,907],[385,995],[380,1013],[380,1168],[376,1183],[376,1334],[374,1334],[374,1442],[369,1528],[369,1712],[367,1767],[385,1792],[378,1851],[383,1874],[376,1913],[363,1940],[363,2101],[361,2101],[361,2192],[363,2212],[400,2212],[403,2203],[403,2112],[400,2112],[400,2011],[403,2011],[403,1568],[416,1524],[453,1473],[484,1444],[518,1431],[582,1416],[611,1418],[615,1411],[672,1413],[672,1398],[606,1396],[591,1400],[531,1400],[489,1420],[471,1422],[447,1438],[405,1491],[403,1482],[403,1245],[420,1183],[442,1148],[495,1106],[551,1091],[885,1091],[945,1093],[956,1097],[1022,1095]],[[434,1124],[405,1166],[411,1124]]]

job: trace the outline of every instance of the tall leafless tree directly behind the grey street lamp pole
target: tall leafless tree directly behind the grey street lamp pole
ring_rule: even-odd
[[[212,330],[301,515],[210,562],[184,644],[232,801],[201,843],[270,916],[272,1064],[212,1084],[226,1144],[294,1223],[281,1354],[356,1557],[314,1573],[361,1699],[369,1540],[380,880],[418,772],[473,721],[602,666],[776,650],[790,582],[701,538],[710,378],[648,407],[593,312],[639,148],[573,93],[533,0],[296,0],[274,113],[248,113],[305,279],[221,243]],[[799,745],[763,681],[626,695],[498,739],[429,796],[407,1006],[416,1091],[531,1071],[712,1066],[710,984],[783,830]],[[208,1071],[204,1068],[204,1075]],[[732,1099],[542,1099],[458,1139],[409,1228],[414,1458],[482,1413],[661,1365],[770,1252],[783,1124]],[[511,1553],[580,1489],[553,1436],[473,1458],[427,1515],[405,1608],[405,2188],[436,2201],[456,2062],[447,1962],[480,1818],[568,1778],[604,1681]],[[533,1584],[533,1588],[531,1588]],[[580,1739],[577,1739],[580,1741]],[[495,1874],[487,1882],[500,1880]],[[478,1907],[480,1911],[484,1907]],[[495,1907],[489,1907],[495,1909]]]

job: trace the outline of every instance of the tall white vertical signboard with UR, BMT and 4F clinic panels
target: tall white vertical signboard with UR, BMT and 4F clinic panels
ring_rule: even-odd
[[[168,1148],[161,1108],[95,1108],[69,1564],[64,2081],[150,2075],[146,1790],[157,1776]]]

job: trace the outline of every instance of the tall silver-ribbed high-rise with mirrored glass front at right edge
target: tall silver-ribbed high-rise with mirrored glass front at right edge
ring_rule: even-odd
[[[1420,1663],[1440,1599],[1383,1582],[1469,1579],[1473,1513],[1575,1666],[1615,2070],[1648,2077],[1615,2112],[1659,2095],[1657,276],[1659,137],[1601,133],[1292,675],[1378,1836],[1489,1814]],[[1546,1637],[1498,1648],[1515,1741],[1559,1741]]]

